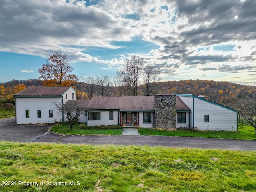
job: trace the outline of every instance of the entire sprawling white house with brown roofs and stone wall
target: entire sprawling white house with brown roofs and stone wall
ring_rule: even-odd
[[[67,121],[54,102],[76,102],[72,87],[28,87],[16,94],[16,124]],[[147,128],[237,130],[237,111],[192,94],[110,96],[83,100],[79,122]]]

